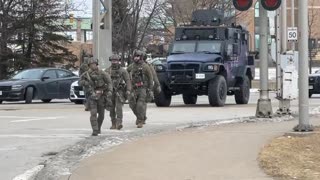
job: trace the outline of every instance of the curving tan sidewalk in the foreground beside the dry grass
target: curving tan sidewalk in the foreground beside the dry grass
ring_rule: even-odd
[[[313,125],[320,124],[317,117],[310,120]],[[258,153],[274,137],[292,131],[297,124],[297,119],[230,124],[144,137],[84,160],[69,179],[272,179],[259,168]]]

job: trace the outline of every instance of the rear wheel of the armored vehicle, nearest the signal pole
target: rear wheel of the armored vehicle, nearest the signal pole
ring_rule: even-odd
[[[240,90],[235,91],[234,97],[237,104],[248,104],[250,98],[250,80],[248,76],[244,76],[243,79],[237,84]]]

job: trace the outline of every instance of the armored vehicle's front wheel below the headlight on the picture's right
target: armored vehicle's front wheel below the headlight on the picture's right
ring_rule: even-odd
[[[227,82],[223,76],[209,81],[208,98],[211,106],[224,106],[227,98]]]

